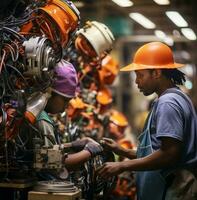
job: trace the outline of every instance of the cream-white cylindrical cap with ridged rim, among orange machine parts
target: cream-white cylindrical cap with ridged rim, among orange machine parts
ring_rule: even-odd
[[[81,28],[78,34],[88,40],[98,56],[105,51],[110,51],[115,40],[109,28],[97,21],[86,22],[86,26]]]

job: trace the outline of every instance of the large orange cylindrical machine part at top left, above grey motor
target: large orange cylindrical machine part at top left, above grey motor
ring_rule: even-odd
[[[32,17],[32,21],[21,27],[21,34],[45,34],[62,47],[68,44],[80,19],[76,7],[61,0],[49,0],[44,7],[38,8],[38,13],[33,13]]]

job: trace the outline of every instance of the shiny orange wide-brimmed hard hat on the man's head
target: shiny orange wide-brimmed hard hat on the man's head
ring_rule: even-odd
[[[150,42],[140,47],[134,55],[133,63],[120,71],[142,69],[174,69],[184,64],[175,63],[172,50],[162,42]]]

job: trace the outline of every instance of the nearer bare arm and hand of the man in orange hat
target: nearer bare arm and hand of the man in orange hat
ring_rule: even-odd
[[[98,174],[108,178],[127,170],[149,171],[175,166],[180,161],[182,142],[169,137],[163,137],[161,141],[161,148],[152,154],[129,161],[105,163],[98,169]]]

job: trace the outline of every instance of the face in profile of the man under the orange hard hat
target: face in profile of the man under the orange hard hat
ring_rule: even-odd
[[[135,83],[138,86],[140,92],[145,96],[151,95],[155,92],[155,79],[153,76],[154,70],[136,70],[136,80]]]

